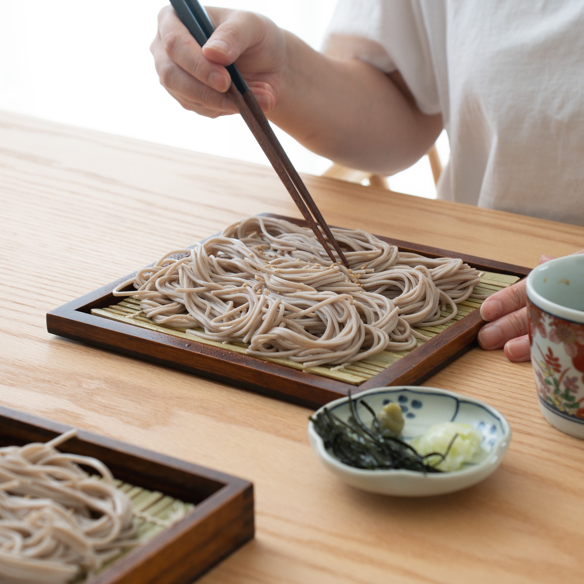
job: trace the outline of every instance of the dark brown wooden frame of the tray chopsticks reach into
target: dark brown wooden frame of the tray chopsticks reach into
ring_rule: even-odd
[[[303,220],[271,213],[265,217],[286,219],[298,225]],[[401,239],[377,236],[397,245],[400,251],[414,252],[430,258],[461,258],[472,267],[524,277],[530,269]],[[91,314],[92,308],[116,304],[112,290],[135,274],[128,274],[81,298],[72,300],[47,314],[47,331],[54,335],[78,340],[89,345],[113,350],[131,357],[146,359],[173,369],[180,369],[221,381],[245,390],[270,395],[295,404],[318,408],[350,391],[362,391],[387,385],[415,385],[442,369],[447,363],[471,348],[484,321],[478,310],[461,318],[409,354],[391,364],[381,373],[358,386],[333,380],[285,365],[269,363],[220,347],[187,341],[166,333],[124,324]]]

